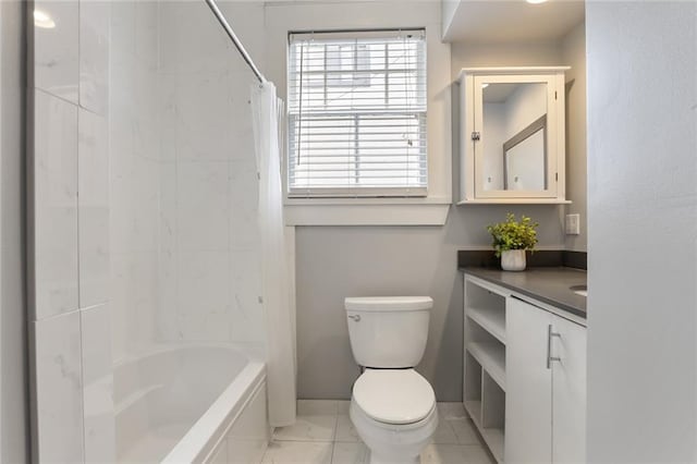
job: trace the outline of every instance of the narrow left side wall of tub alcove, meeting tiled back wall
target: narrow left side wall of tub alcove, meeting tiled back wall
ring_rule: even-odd
[[[158,3],[111,4],[110,179],[114,361],[154,341],[158,304]]]

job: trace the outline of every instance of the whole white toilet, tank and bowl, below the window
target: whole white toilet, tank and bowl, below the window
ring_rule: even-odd
[[[353,355],[365,367],[353,386],[350,414],[371,464],[418,463],[436,431],[436,394],[414,370],[432,306],[428,296],[345,300]]]

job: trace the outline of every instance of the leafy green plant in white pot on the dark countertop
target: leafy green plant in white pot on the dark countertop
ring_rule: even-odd
[[[539,224],[523,215],[521,221],[515,220],[515,215],[509,212],[505,222],[487,227],[493,237],[493,249],[497,257],[501,258],[501,268],[510,271],[525,270],[525,252],[535,251],[537,244],[537,231]]]

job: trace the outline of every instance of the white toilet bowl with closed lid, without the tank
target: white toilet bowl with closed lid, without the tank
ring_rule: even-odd
[[[438,426],[433,389],[414,369],[366,369],[350,415],[371,464],[418,463]]]

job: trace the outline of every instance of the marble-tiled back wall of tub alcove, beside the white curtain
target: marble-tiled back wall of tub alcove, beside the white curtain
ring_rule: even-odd
[[[264,61],[264,5],[222,2]],[[260,344],[255,82],[203,1],[160,5],[160,341]]]

